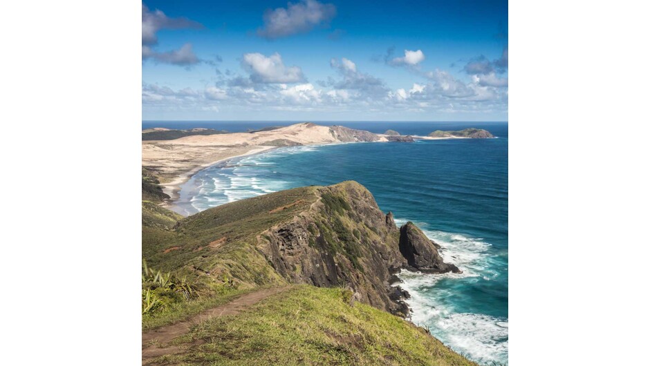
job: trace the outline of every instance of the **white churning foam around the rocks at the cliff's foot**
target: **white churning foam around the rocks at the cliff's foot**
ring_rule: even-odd
[[[395,219],[395,222],[402,225],[407,220]],[[426,227],[424,223],[420,225]],[[458,312],[449,302],[442,300],[454,296],[450,293],[453,289],[436,288],[441,280],[472,277],[490,280],[498,276],[496,271],[490,270],[488,249],[491,244],[460,233],[427,229],[423,229],[423,233],[440,244],[443,260],[456,264],[463,273],[401,271],[398,276],[403,282],[399,285],[411,295],[406,300],[411,308],[411,321],[427,327],[433,336],[472,360],[479,363],[508,363],[508,319]]]

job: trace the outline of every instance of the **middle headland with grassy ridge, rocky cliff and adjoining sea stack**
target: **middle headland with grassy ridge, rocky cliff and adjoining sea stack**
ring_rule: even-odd
[[[402,316],[406,293],[390,287],[396,271],[458,271],[414,224],[398,229],[392,213],[351,181],[232,202],[158,230],[150,243],[143,236],[152,266],[208,283],[349,287],[357,300]]]

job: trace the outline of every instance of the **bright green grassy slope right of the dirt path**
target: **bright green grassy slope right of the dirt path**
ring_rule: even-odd
[[[181,365],[475,365],[351,291],[298,285],[236,316],[212,318],[174,343]]]

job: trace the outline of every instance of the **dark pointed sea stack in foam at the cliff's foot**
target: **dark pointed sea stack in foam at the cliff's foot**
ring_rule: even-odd
[[[438,244],[427,236],[413,222],[400,227],[400,252],[409,267],[423,273],[461,273],[454,264],[443,262],[438,253]]]

